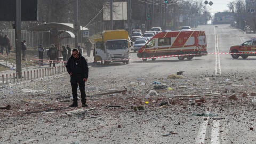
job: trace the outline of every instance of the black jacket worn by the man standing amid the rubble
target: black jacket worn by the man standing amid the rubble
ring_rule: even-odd
[[[88,65],[85,58],[79,53],[78,58],[74,58],[71,56],[68,59],[66,65],[68,74],[72,73],[70,82],[71,83],[78,83],[82,82],[84,78],[88,78]]]

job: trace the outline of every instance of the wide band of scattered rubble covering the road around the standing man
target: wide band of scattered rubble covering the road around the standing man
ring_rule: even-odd
[[[125,130],[130,131],[131,125],[136,125],[141,126],[141,129],[154,130],[163,137],[168,138],[169,135],[174,137],[178,133],[181,135],[180,132],[185,129],[187,123],[199,123],[197,122],[199,119],[202,121],[198,117],[223,119],[221,122],[229,122],[243,117],[244,111],[239,111],[241,107],[253,111],[256,106],[256,92],[252,81],[251,77],[243,81],[237,81],[236,77],[229,77],[227,80],[225,74],[217,78],[206,74],[189,77],[186,75],[148,75],[143,78],[93,77],[86,82],[86,95],[90,96],[86,97],[86,104],[89,106],[87,109],[82,107],[80,96],[78,96],[77,108],[68,107],[73,101],[68,75],[51,79],[43,78],[42,81],[30,83],[9,84],[0,87],[0,105],[5,106],[6,103],[10,103],[11,106],[9,110],[0,108],[0,122],[10,122],[1,125],[1,130],[8,129],[8,132],[13,134],[10,139],[15,138],[17,135],[15,132],[24,131],[19,135],[27,140],[30,138],[37,140],[38,137],[35,135],[43,133],[42,129],[42,132],[36,132],[38,130],[22,129],[17,125],[24,125],[23,127],[47,125],[44,129],[49,130],[47,134],[52,139],[55,138],[55,133],[63,131],[65,133],[61,133],[62,136],[82,138],[86,135],[87,140],[89,137],[90,140],[99,138],[116,140],[106,133],[103,137],[102,131],[110,127],[113,130],[111,134],[122,133]],[[24,87],[26,89],[23,89]],[[237,121],[243,122],[243,119]],[[161,125],[161,129],[157,129],[156,122],[161,124],[169,122],[173,127],[172,130],[179,131],[163,134],[165,129],[170,130],[169,127],[163,128]],[[250,117],[250,122],[253,123],[254,118]],[[147,124],[154,126],[147,127]],[[245,125],[248,131],[248,124]],[[194,128],[196,129],[197,126],[195,125]],[[63,127],[65,129],[62,129]],[[72,131],[71,127],[76,127],[77,131]],[[139,130],[134,130],[134,133],[141,132]],[[9,139],[5,135],[1,137],[1,140]],[[83,142],[90,143],[90,140]],[[10,141],[6,143],[17,142]],[[41,139],[39,142],[42,142]],[[117,143],[117,141],[109,143]]]

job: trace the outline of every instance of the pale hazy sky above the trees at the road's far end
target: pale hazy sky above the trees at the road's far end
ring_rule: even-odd
[[[205,0],[203,0],[204,2]],[[210,6],[207,4],[207,8],[210,10],[211,13],[215,12],[222,12],[228,10],[228,4],[234,0],[207,0],[208,2],[212,1],[213,5]]]

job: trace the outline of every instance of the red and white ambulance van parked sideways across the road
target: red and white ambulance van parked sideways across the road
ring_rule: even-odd
[[[172,56],[171,56],[172,55]],[[178,57],[191,60],[193,57],[207,55],[207,43],[204,30],[169,31],[155,35],[142,46],[137,56],[146,61],[155,57]]]

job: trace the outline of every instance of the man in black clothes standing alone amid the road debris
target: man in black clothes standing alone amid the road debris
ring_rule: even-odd
[[[85,94],[85,82],[88,78],[88,65],[85,58],[79,53],[77,49],[72,50],[72,56],[68,59],[66,65],[68,74],[70,75],[70,83],[72,87],[73,94],[73,104],[69,107],[77,107],[77,86],[79,85],[79,90],[81,92],[81,102],[83,107],[86,105],[86,94]],[[77,85],[78,83],[78,85]]]

